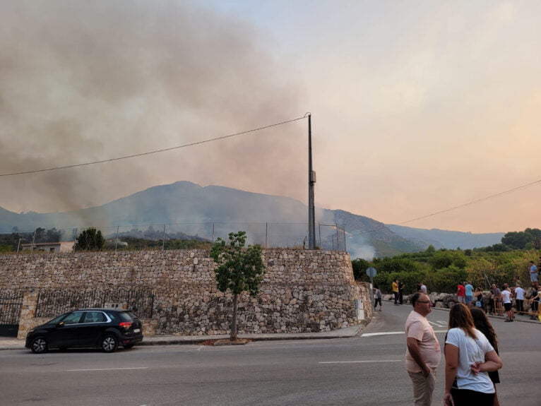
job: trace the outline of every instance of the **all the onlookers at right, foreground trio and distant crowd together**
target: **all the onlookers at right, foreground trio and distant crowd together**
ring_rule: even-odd
[[[525,301],[528,301],[528,314],[537,318],[541,290],[533,261],[530,261],[528,270],[531,282],[528,297],[518,279],[512,288],[507,283],[501,289],[493,284],[488,294],[483,294],[480,288],[474,289],[470,282],[458,284],[458,303],[449,309],[448,331],[444,340],[445,406],[499,406],[496,383],[499,383],[498,371],[503,364],[497,335],[487,314],[505,314],[505,321],[512,322],[515,318],[514,299],[518,314],[526,314]],[[395,282],[398,287],[398,280]],[[413,309],[405,322],[405,367],[412,380],[414,405],[429,406],[432,405],[441,348],[434,329],[427,321],[432,301],[422,282],[417,282],[417,293],[410,301]]]

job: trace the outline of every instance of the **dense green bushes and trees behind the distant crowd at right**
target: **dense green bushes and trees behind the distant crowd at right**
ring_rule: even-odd
[[[356,280],[369,282],[367,268],[374,267],[377,274],[374,285],[382,292],[390,292],[393,280],[403,282],[404,294],[417,291],[417,282],[427,285],[429,292],[456,292],[458,282],[469,280],[474,287],[489,289],[492,283],[510,285],[516,279],[523,287],[530,284],[529,261],[537,264],[541,256],[541,230],[525,229],[508,232],[501,244],[478,249],[434,249],[403,253],[398,256],[352,261]]]

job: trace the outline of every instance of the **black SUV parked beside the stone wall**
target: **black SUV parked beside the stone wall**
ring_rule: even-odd
[[[141,321],[129,310],[81,309],[53,318],[32,328],[26,335],[26,348],[34,354],[49,348],[97,347],[114,352],[119,345],[131,348],[143,341]]]

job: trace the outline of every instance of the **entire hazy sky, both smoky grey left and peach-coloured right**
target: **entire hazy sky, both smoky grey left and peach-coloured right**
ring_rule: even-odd
[[[312,114],[316,205],[386,223],[541,179],[538,1],[0,3],[0,174]],[[14,212],[193,181],[307,203],[307,119],[0,177]],[[420,228],[541,227],[541,182]]]

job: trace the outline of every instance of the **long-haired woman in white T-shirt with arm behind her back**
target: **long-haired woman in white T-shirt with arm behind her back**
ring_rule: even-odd
[[[483,333],[475,328],[465,304],[451,307],[448,327],[444,405],[492,406],[496,391],[488,372],[500,369],[501,359]]]

